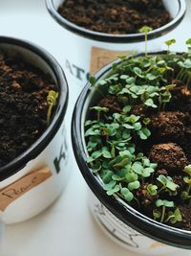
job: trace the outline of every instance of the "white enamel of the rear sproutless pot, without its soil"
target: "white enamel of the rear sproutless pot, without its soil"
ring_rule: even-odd
[[[74,94],[77,95],[81,91],[90,73],[94,73],[117,56],[127,55],[132,51],[144,51],[143,34],[109,35],[76,26],[57,12],[63,2],[64,0],[46,0],[48,11],[53,19],[63,27],[57,39],[63,41],[61,54],[65,63],[66,76]],[[148,34],[150,51],[162,50],[164,35],[176,29],[186,11],[185,0],[163,0],[163,3],[172,20]]]

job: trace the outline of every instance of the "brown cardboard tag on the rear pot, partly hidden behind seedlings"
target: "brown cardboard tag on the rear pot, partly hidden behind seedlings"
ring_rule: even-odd
[[[91,54],[91,74],[95,74],[101,67],[117,59],[118,56],[130,55],[130,51],[112,51],[97,47],[92,47]]]

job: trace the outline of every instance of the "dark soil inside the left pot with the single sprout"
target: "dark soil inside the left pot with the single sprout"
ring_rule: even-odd
[[[55,85],[20,57],[0,52],[0,168],[47,128],[47,95]]]

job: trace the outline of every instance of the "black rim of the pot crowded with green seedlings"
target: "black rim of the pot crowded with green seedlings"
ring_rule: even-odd
[[[166,52],[150,53],[151,55],[165,55]],[[179,53],[178,53],[179,55]],[[137,57],[141,54],[137,55]],[[119,61],[117,60],[117,63]],[[107,72],[112,69],[113,63],[102,68],[96,73],[96,81],[103,77]],[[106,208],[108,208],[120,221],[136,229],[139,233],[150,237],[160,243],[177,246],[180,248],[191,249],[191,232],[181,230],[172,226],[165,225],[158,221],[154,221],[130,205],[122,204],[114,197],[110,197],[103,190],[101,184],[98,182],[96,175],[94,175],[87,165],[87,154],[85,145],[83,145],[83,134],[81,130],[81,120],[83,108],[86,100],[91,92],[91,83],[88,82],[81,94],[79,95],[74,107],[73,120],[72,120],[72,142],[76,162],[79,170],[86,180],[87,184]]]

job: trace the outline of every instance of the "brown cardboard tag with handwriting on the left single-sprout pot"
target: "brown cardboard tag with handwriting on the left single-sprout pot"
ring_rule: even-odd
[[[52,175],[51,170],[48,167],[45,167],[21,177],[17,181],[11,183],[11,185],[2,189],[0,191],[0,210],[5,211],[12,201],[20,198]]]

